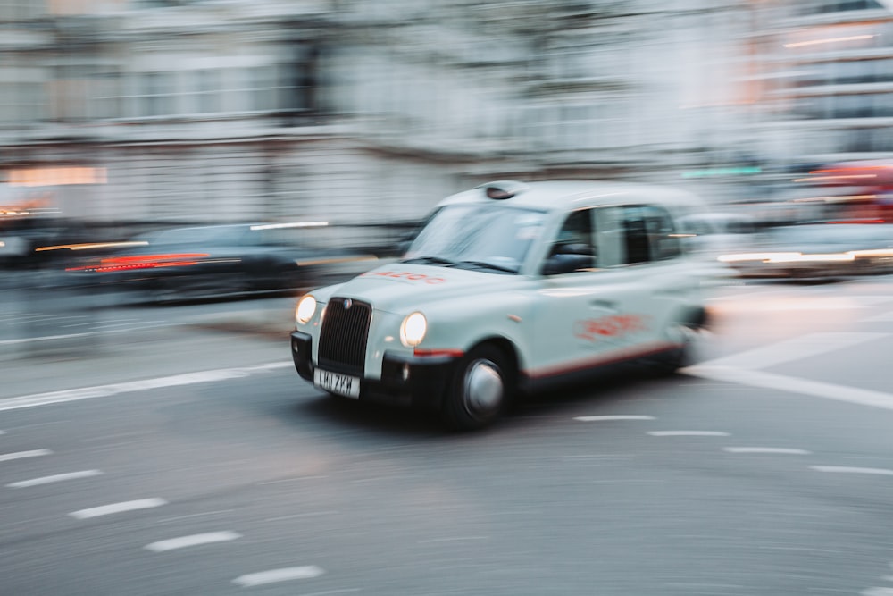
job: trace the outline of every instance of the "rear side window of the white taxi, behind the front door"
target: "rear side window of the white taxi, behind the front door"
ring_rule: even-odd
[[[597,210],[598,264],[663,261],[681,255],[671,215],[660,206],[625,205]]]

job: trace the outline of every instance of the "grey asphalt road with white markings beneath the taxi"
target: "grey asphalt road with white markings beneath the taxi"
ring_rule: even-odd
[[[893,279],[723,289],[685,374],[471,434],[321,396],[265,305],[4,363],[0,593],[893,594]]]

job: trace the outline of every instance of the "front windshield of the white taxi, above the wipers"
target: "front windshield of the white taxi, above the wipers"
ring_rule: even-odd
[[[503,205],[452,205],[435,213],[404,263],[518,273],[546,214]]]

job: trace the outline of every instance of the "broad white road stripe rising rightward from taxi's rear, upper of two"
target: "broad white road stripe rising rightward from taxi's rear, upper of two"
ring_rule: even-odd
[[[819,356],[838,349],[849,348],[865,341],[889,337],[889,333],[808,333],[790,340],[779,341],[761,348],[748,349],[738,354],[716,358],[695,365],[731,366],[735,368],[765,368],[794,360]]]

